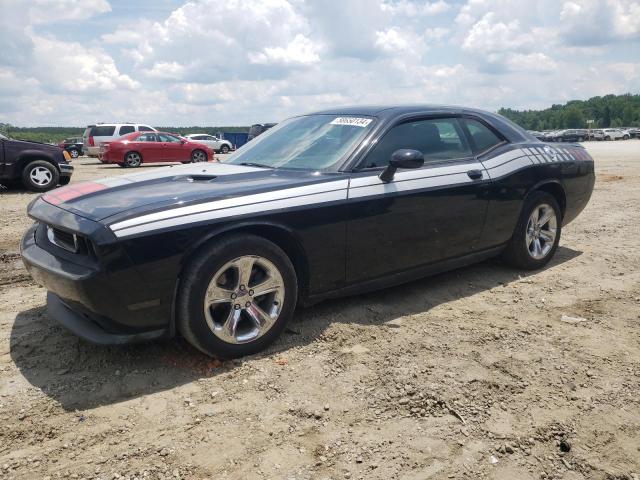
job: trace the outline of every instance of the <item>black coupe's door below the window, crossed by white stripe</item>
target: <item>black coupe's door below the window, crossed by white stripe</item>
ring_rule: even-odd
[[[471,180],[479,162],[354,176],[349,187],[347,281],[471,253],[486,215],[488,177]]]

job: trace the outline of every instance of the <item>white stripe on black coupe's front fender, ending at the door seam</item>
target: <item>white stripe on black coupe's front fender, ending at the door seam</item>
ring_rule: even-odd
[[[110,226],[117,237],[156,230],[175,225],[225,218],[245,213],[256,213],[326,203],[347,198],[349,180],[316,183],[304,187],[285,188],[272,192],[199,203],[114,223]]]

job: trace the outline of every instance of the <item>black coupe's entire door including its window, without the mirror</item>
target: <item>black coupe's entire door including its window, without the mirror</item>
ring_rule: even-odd
[[[490,181],[456,117],[399,122],[360,162],[349,184],[347,281],[357,283],[471,253],[484,225]],[[420,151],[425,166],[379,178],[394,151]],[[470,176],[471,175],[471,176]],[[473,178],[472,178],[473,177]]]

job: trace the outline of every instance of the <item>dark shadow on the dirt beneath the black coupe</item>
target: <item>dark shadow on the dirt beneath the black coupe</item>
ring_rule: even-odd
[[[560,247],[546,268],[581,254]],[[209,358],[182,338],[119,347],[92,345],[51,322],[44,306],[16,316],[10,353],[29,383],[66,410],[84,410],[216,376],[251,358],[286,355],[292,347],[316,341],[335,322],[383,325],[536,273],[516,271],[491,260],[398,287],[327,300],[299,309],[290,329],[275,345],[242,360]]]

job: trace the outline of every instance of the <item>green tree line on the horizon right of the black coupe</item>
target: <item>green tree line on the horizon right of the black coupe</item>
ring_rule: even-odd
[[[572,100],[545,110],[501,108],[498,113],[527,130],[640,127],[640,95],[627,93]]]

